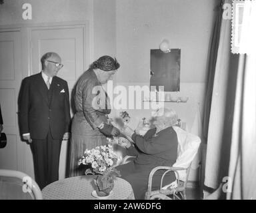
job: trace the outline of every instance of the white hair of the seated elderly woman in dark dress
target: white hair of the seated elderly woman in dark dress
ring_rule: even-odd
[[[177,123],[177,113],[175,110],[167,107],[159,108],[155,111],[153,115],[155,117],[162,117],[163,122],[165,122],[165,126],[173,126]]]

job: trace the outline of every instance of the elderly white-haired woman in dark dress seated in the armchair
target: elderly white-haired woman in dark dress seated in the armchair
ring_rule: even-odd
[[[117,166],[117,170],[121,172],[121,177],[127,180],[135,194],[135,199],[144,199],[147,191],[147,180],[149,173],[155,166],[171,166],[177,158],[178,139],[173,125],[177,122],[177,114],[168,108],[161,108],[155,114],[153,124],[155,128],[151,128],[144,136],[136,134],[129,126],[125,126],[121,132],[133,139],[131,142],[121,144],[127,148],[127,154],[136,156],[135,160]],[[159,171],[153,178],[153,190],[159,188],[161,182],[161,174]],[[175,180],[174,172],[169,172],[163,184],[169,184]]]

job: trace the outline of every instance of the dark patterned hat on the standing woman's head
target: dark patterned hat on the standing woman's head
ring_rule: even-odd
[[[120,65],[117,59],[113,59],[108,55],[100,57],[93,63],[93,69],[101,69],[102,71],[115,71],[119,69]]]

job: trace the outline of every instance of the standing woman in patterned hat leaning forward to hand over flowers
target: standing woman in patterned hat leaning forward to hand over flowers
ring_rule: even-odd
[[[75,88],[75,109],[71,127],[69,176],[83,175],[78,161],[86,149],[107,144],[107,136],[119,135],[118,128],[108,122],[111,112],[109,97],[102,85],[120,67],[116,59],[100,57],[83,73]]]

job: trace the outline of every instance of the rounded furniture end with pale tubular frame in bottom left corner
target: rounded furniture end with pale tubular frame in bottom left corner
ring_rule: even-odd
[[[0,200],[42,200],[35,180],[16,170],[0,170]]]

